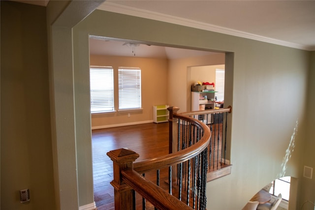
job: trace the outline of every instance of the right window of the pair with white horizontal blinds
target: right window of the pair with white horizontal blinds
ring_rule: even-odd
[[[141,69],[118,68],[118,109],[141,109]]]

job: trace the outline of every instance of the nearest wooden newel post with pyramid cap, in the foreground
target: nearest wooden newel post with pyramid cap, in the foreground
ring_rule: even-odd
[[[114,187],[115,210],[132,210],[132,188],[122,179],[121,171],[133,169],[133,162],[139,154],[128,149],[118,149],[107,152],[107,156],[113,161],[114,180],[110,183]]]

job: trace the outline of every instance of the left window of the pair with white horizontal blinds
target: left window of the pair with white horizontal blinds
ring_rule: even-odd
[[[90,68],[91,113],[114,111],[114,73],[112,67]]]

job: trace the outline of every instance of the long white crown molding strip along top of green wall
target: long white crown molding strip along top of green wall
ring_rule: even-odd
[[[148,11],[144,9],[138,9],[138,8],[106,2],[106,1],[102,3],[100,6],[98,6],[97,9],[177,24],[181,26],[187,26],[187,27],[196,28],[196,29],[209,30],[213,32],[227,34],[227,35],[233,35],[233,36],[238,36],[242,38],[248,38],[248,39],[253,39],[257,41],[267,42],[271,44],[282,45],[285,47],[291,47],[291,48],[307,50],[307,51],[315,50],[315,47],[311,47],[311,46],[305,46],[305,45],[300,45],[296,43],[286,42],[279,39],[273,39],[273,38],[260,36],[260,35],[244,32],[244,31],[240,31],[240,30],[228,29],[221,26],[216,26],[212,24],[199,22],[199,21],[193,21],[193,20],[180,18],[180,17],[176,17],[172,15],[166,15],[166,14],[162,14],[158,12],[152,12],[152,11]]]

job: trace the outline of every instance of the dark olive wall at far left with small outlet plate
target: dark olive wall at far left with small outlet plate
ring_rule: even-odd
[[[55,210],[46,8],[1,6],[1,210]],[[20,203],[29,188],[31,201]]]

